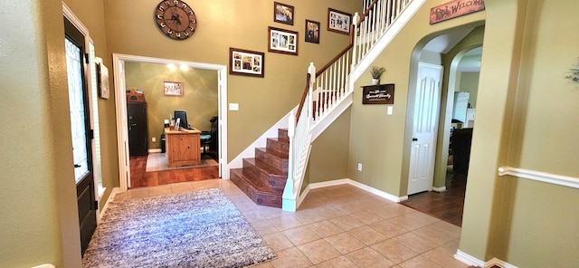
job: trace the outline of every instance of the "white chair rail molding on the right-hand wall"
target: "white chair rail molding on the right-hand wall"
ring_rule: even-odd
[[[500,167],[498,168],[498,176],[527,178],[557,186],[579,189],[579,177],[568,177],[524,168]]]

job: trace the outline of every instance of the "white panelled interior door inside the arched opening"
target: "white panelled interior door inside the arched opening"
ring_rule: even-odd
[[[432,190],[442,66],[418,63],[408,195]]]

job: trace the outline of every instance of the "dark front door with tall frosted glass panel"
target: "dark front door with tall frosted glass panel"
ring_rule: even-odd
[[[69,102],[71,108],[72,155],[74,179],[81,226],[81,252],[87,249],[90,237],[97,227],[97,204],[92,174],[91,129],[89,117],[89,91],[84,71],[86,58],[84,35],[64,18],[66,38],[66,70],[68,73]]]

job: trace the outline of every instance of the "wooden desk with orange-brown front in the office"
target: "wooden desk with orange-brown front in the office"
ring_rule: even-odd
[[[171,168],[201,164],[200,135],[199,129],[166,128],[166,164]]]

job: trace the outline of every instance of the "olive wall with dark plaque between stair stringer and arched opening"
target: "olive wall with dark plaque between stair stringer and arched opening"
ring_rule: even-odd
[[[406,122],[409,109],[411,61],[417,45],[424,45],[443,31],[481,22],[485,12],[469,14],[440,24],[429,24],[430,9],[448,1],[428,1],[396,35],[372,65],[386,68],[381,83],[394,83],[394,114],[386,115],[387,105],[363,105],[361,87],[371,80],[365,72],[355,83],[351,108],[348,177],[393,196],[405,196],[412,131]],[[416,56],[418,59],[420,55]],[[432,57],[430,57],[432,58]],[[412,115],[412,112],[410,113]],[[448,150],[448,148],[447,148]],[[363,171],[357,170],[361,163]]]

